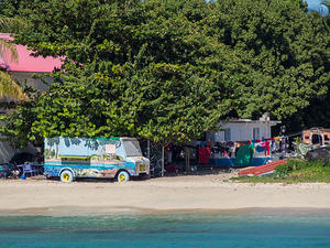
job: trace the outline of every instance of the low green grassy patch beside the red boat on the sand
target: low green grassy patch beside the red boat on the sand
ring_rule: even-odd
[[[240,176],[232,180],[246,183],[330,183],[330,161],[288,160],[286,164],[276,166],[271,176]]]

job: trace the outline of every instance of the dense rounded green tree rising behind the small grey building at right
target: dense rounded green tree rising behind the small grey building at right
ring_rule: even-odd
[[[219,39],[238,57],[229,78],[238,116],[283,119],[327,94],[328,36],[300,1],[221,0],[217,12]]]

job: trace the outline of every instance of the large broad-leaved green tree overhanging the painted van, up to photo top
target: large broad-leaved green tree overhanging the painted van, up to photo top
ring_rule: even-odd
[[[65,55],[67,64],[48,91],[4,117],[14,140],[130,134],[184,142],[230,111],[219,68],[233,60],[204,25],[209,3],[36,2],[21,14],[37,35],[23,32],[18,41]]]

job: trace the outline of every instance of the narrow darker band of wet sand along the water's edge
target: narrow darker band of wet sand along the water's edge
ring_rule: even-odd
[[[140,215],[244,215],[244,216],[304,216],[304,215],[330,215],[330,208],[307,207],[250,207],[232,209],[152,209],[134,207],[80,207],[80,206],[55,206],[31,207],[21,209],[0,209],[0,217],[15,216],[45,216],[45,217],[87,217],[87,216],[140,216]]]

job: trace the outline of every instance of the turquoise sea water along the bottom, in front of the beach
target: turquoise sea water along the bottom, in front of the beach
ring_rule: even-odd
[[[330,247],[330,215],[0,216],[0,247]]]

